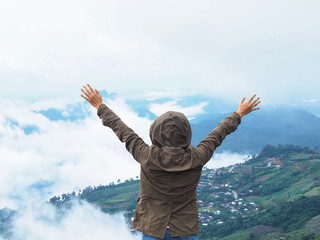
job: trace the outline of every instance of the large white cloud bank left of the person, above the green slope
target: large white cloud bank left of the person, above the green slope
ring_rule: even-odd
[[[91,114],[83,120],[50,121],[33,111],[41,105],[0,102],[0,207],[16,208],[29,198],[45,201],[54,194],[139,175],[139,164],[101,124],[95,109],[90,107]],[[150,120],[139,118],[121,99],[108,105],[149,142]],[[26,135],[26,125],[39,130]]]

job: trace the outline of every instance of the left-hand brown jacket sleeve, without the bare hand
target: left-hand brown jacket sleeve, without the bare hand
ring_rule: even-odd
[[[143,161],[149,152],[149,146],[129,128],[110,108],[102,104],[97,112],[104,126],[110,127],[137,162]]]

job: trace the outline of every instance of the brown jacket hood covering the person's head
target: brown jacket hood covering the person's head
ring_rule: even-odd
[[[169,111],[154,120],[150,127],[152,144],[158,147],[187,147],[191,143],[191,127],[187,117]]]

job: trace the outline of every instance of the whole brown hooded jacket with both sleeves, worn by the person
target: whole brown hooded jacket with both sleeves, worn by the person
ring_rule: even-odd
[[[164,113],[152,123],[151,146],[106,105],[99,107],[98,116],[125,142],[141,166],[141,192],[132,227],[161,239],[167,226],[171,237],[197,234],[196,189],[202,167],[223,139],[237,129],[240,116],[231,113],[197,147],[190,144],[189,121],[179,112]]]

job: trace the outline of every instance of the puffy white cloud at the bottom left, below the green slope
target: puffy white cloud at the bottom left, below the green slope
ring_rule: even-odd
[[[25,240],[138,240],[122,214],[109,215],[86,202],[75,202],[64,214],[52,205],[29,205],[19,211],[13,225],[13,239]]]

